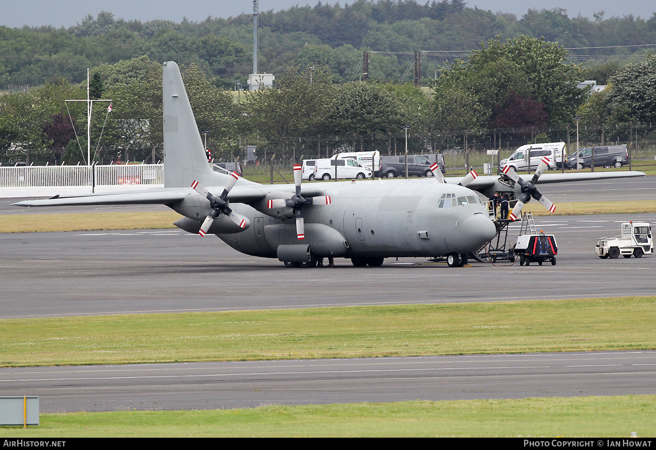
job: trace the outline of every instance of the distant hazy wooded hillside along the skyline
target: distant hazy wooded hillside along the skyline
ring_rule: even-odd
[[[291,7],[260,15],[259,66],[262,72],[283,73],[289,66],[315,66],[331,73],[333,82],[358,79],[363,51],[371,54],[369,78],[400,82],[415,51],[464,51],[496,36],[544,37],[573,51],[574,62],[608,56],[616,60],[640,47],[592,49],[656,43],[656,13],[605,18],[569,17],[564,9],[529,10],[521,18],[466,6],[462,0],[417,3],[416,0],[356,0],[348,5]],[[0,27],[0,89],[83,81],[80,68],[116,64],[139,56],[153,61],[195,64],[216,87],[245,84],[253,58],[251,14],[230,18],[184,20],[123,20],[102,11],[66,28]],[[447,56],[424,55],[421,76],[435,77]],[[449,60],[452,58],[449,57]]]

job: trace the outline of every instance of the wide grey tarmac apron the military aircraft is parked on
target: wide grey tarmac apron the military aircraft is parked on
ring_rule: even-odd
[[[341,258],[335,268],[286,269],[181,230],[0,234],[0,318],[653,295],[656,256],[594,255],[597,239],[619,234],[626,218],[537,218],[556,235],[558,264],[529,267],[388,258],[354,268]]]

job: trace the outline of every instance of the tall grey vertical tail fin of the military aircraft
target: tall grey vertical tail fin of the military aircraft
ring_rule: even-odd
[[[182,83],[178,64],[163,66],[164,186],[187,188],[194,180],[205,186],[225,184],[226,175],[215,173],[207,163],[203,140]]]

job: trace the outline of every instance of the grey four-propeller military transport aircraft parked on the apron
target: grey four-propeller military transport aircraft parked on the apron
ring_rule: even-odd
[[[553,210],[535,188],[543,182],[644,176],[640,172],[544,174],[531,181],[506,176],[434,177],[262,185],[207,163],[194,113],[175,62],[163,64],[164,185],[138,192],[20,201],[18,206],[163,204],[184,216],[174,222],[190,233],[215,234],[247,255],[278,258],[287,267],[314,267],[318,258],[350,258],[354,266],[380,266],[395,256],[446,256],[462,266],[496,233],[474,190],[489,197],[514,190]],[[205,187],[207,186],[207,188]],[[212,194],[219,193],[219,195]],[[519,215],[519,209],[513,214]]]

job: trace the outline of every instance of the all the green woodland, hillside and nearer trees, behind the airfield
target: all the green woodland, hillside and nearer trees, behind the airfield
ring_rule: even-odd
[[[41,85],[0,96],[2,160],[70,161],[86,154],[80,151],[85,105],[69,103],[67,110],[64,99],[86,97],[84,68],[90,67],[92,98],[113,101],[112,113],[105,104],[94,106],[92,148],[98,146],[105,162],[157,161],[163,60],[183,68],[198,126],[210,130],[215,155],[232,153],[240,142],[301,148],[311,140],[374,146],[379,139],[391,148],[402,124],[411,125],[413,145],[434,150],[440,140],[464,141],[465,134],[485,129],[529,129],[531,136],[531,127],[564,127],[575,113],[594,126],[656,118],[653,56],[626,68],[617,61],[581,68],[570,62],[607,50],[577,49],[572,56],[564,48],[653,43],[656,14],[589,20],[569,18],[562,9],[529,10],[518,20],[460,0],[357,0],[263,12],[260,70],[276,73],[277,85],[236,102],[224,89],[251,72],[251,20],[243,14],[142,23],[101,12],[68,30],[0,27],[0,87]],[[407,83],[415,51],[460,51],[479,43],[450,64],[424,55],[424,85],[426,75],[435,75],[430,94]],[[369,51],[367,82],[358,81],[363,51]],[[635,61],[648,53],[637,52]],[[588,96],[576,87],[583,79],[611,88]]]

